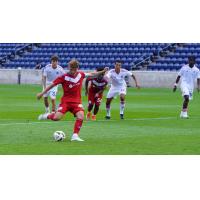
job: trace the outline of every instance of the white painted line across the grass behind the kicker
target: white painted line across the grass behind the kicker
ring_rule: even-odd
[[[150,121],[150,120],[168,120],[168,119],[177,119],[178,117],[155,117],[155,118],[129,118],[129,119],[124,119],[124,121]],[[123,121],[123,120],[115,120],[115,119],[110,119],[110,120],[97,120],[95,122],[93,121],[87,121],[86,123],[96,123],[96,122],[115,122],[115,121]],[[66,120],[66,121],[56,121],[55,123],[66,123],[66,122],[74,122],[74,120]],[[16,122],[16,123],[4,123],[1,124],[0,126],[7,126],[7,125],[34,125],[34,124],[54,124],[53,121],[49,122]]]

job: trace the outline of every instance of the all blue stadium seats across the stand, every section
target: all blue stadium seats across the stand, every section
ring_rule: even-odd
[[[8,55],[12,50],[23,44],[0,44],[0,57]],[[50,57],[57,54],[60,64],[66,66],[72,58],[79,60],[82,69],[94,69],[98,66],[112,67],[117,59],[123,60],[123,66],[131,69],[134,63],[152,56],[155,52],[168,47],[167,43],[44,43],[29,52],[8,61],[5,68],[34,68],[37,63],[45,66]],[[3,50],[5,49],[5,51]],[[177,47],[165,57],[160,57],[156,63],[150,63],[148,70],[177,70],[187,62],[188,55],[195,55],[200,63],[200,44],[190,43]]]

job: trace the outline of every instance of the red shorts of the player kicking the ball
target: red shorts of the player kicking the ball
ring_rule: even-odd
[[[69,111],[75,115],[79,111],[84,112],[84,108],[80,103],[60,103],[57,111],[63,114]]]

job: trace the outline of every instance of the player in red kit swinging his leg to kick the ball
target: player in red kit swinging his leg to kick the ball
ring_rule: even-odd
[[[84,109],[81,102],[81,89],[82,82],[85,77],[98,77],[104,74],[108,68],[104,68],[103,71],[91,72],[85,74],[84,72],[78,71],[79,62],[75,59],[69,62],[69,72],[58,77],[53,81],[53,83],[48,86],[43,92],[37,94],[37,98],[40,99],[45,93],[47,93],[54,86],[61,84],[63,88],[63,96],[56,113],[46,113],[38,117],[39,120],[53,120],[58,121],[62,119],[66,112],[71,112],[76,117],[76,122],[74,125],[74,133],[72,135],[71,141],[83,141],[79,136],[79,131],[81,129],[83,119],[84,119]]]

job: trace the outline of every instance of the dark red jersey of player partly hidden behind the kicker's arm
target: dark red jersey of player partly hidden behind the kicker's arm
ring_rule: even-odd
[[[91,86],[90,86],[89,90],[92,93],[97,93],[97,92],[103,90],[104,87],[108,84],[107,80],[105,80],[104,78],[102,78],[102,79],[91,78],[91,79],[88,79],[88,81],[91,81]]]

